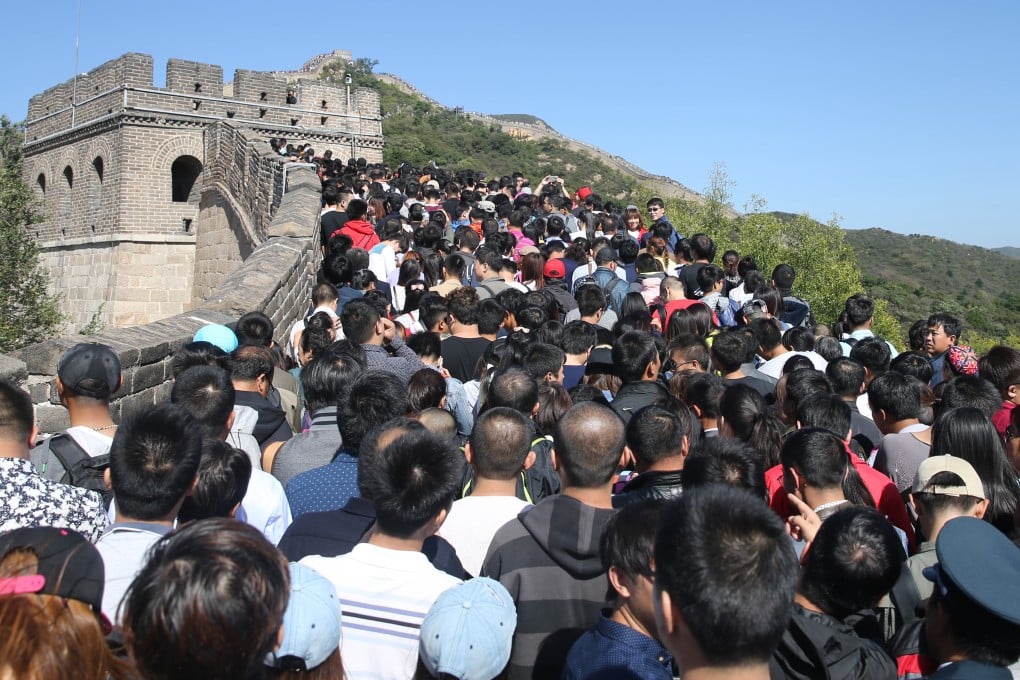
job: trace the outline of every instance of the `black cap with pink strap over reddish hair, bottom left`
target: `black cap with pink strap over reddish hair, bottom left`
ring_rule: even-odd
[[[0,578],[0,595],[38,593],[76,599],[92,609],[103,633],[112,629],[103,615],[106,569],[99,551],[70,529],[27,527],[0,535],[0,560],[14,551],[32,553],[35,569]]]

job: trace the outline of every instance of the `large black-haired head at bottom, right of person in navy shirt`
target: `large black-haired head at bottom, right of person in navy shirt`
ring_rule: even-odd
[[[666,591],[705,661],[768,662],[794,610],[797,555],[782,521],[747,491],[684,491],[659,520],[656,591]]]

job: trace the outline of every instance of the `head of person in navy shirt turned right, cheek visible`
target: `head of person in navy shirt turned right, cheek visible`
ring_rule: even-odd
[[[608,599],[626,608],[640,627],[655,633],[655,594],[652,554],[655,532],[665,504],[659,500],[628,503],[602,530],[599,557],[609,578]]]

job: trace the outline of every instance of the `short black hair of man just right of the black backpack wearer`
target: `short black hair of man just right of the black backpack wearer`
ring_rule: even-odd
[[[117,512],[134,520],[164,519],[188,492],[202,458],[199,425],[172,404],[126,415],[110,447]]]

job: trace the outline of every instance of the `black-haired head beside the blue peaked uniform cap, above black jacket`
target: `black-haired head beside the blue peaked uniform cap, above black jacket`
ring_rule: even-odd
[[[896,529],[872,508],[850,506],[822,522],[798,591],[840,621],[871,609],[900,576],[906,556]]]

